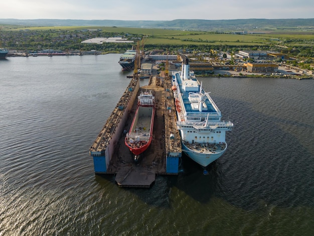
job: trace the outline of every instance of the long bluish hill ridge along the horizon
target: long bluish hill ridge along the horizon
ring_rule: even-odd
[[[58,20],[58,19],[0,19],[0,24],[21,26],[106,26],[131,28],[162,28],[176,30],[252,30],[291,29],[309,27],[314,29],[312,19],[237,19],[237,20],[184,20],[173,21],[119,21],[119,20]]]

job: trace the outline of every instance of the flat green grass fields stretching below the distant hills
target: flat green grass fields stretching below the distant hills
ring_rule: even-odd
[[[289,40],[289,46],[303,45],[314,46],[314,29],[308,30],[273,30],[265,31],[263,34],[218,34],[213,32],[197,32],[184,30],[167,29],[144,29],[144,28],[122,28],[122,27],[90,27],[90,26],[55,26],[55,27],[30,27],[16,28],[12,30],[66,30],[80,31],[83,29],[99,29],[103,32],[119,33],[121,35],[141,35],[147,36],[145,44],[170,44],[170,45],[267,45],[274,43],[273,39],[278,41]]]

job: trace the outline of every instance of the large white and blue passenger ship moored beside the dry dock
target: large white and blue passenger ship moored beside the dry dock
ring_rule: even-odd
[[[182,151],[205,168],[227,150],[226,131],[231,131],[233,124],[221,121],[219,108],[190,71],[189,59],[183,59],[182,71],[172,73],[177,128]]]

